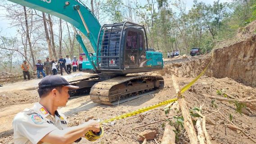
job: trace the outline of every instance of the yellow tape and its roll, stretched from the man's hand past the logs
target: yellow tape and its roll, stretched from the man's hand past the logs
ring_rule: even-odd
[[[212,59],[213,59],[213,52],[212,52],[212,58],[211,58],[211,60],[210,60],[210,63],[212,62]],[[181,93],[181,94],[183,94],[186,90],[188,90],[188,89],[206,72],[206,69],[209,67],[210,63],[206,66],[206,68],[205,68],[195,79],[193,79],[190,83],[188,83],[188,84],[185,85],[183,88],[181,88],[181,90],[180,90],[180,93]],[[132,111],[132,112],[128,112],[128,113],[122,114],[122,115],[117,116],[117,117],[113,117],[113,118],[110,118],[110,119],[106,119],[106,120],[104,120],[104,121],[101,121],[100,124],[102,124],[102,123],[108,123],[108,122],[115,121],[115,120],[121,120],[121,119],[126,118],[126,117],[131,117],[131,116],[140,114],[140,113],[142,113],[142,112],[146,112],[146,111],[155,109],[155,108],[157,108],[157,107],[166,105],[166,104],[168,104],[168,103],[172,103],[172,102],[174,102],[174,101],[176,101],[176,100],[178,100],[178,98],[169,99],[169,100],[166,100],[166,101],[163,101],[163,102],[160,102],[160,103],[157,103],[157,104],[148,106],[148,107],[140,108],[140,109],[138,109],[138,110],[135,110],[135,111]],[[88,131],[88,132],[85,134],[85,137],[86,137],[88,140],[90,140],[90,141],[96,141],[97,139],[101,138],[101,136],[103,135],[103,129],[101,129],[101,130],[102,130],[102,132],[101,132],[100,135],[95,135],[92,131]]]

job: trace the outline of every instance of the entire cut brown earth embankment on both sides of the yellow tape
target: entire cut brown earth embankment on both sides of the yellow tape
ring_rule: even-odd
[[[179,77],[195,77],[210,62],[211,55],[185,63],[166,65],[163,74]],[[214,50],[214,58],[206,76],[229,77],[244,85],[256,86],[256,35],[228,47]]]

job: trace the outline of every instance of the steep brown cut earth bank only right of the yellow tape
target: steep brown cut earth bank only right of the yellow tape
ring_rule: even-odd
[[[229,77],[256,86],[256,35],[245,41],[216,49],[211,71],[216,78]]]

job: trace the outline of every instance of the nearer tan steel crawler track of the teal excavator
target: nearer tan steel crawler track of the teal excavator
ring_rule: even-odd
[[[93,85],[90,96],[94,103],[115,105],[163,87],[161,76],[118,76]]]

